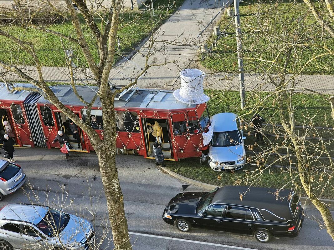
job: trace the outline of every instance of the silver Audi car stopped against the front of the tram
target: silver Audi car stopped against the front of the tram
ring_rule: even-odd
[[[215,121],[207,163],[214,171],[239,170],[246,163],[240,119],[233,113],[212,116]]]

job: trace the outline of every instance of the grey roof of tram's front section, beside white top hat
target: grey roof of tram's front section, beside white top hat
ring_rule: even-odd
[[[122,86],[116,86],[113,90],[120,89]],[[50,87],[65,105],[85,106],[75,95],[70,85],[55,85]],[[94,86],[76,86],[76,90],[82,98],[90,102],[98,92],[98,87]],[[41,97],[37,103],[50,104],[48,100]],[[93,107],[101,107],[100,98],[97,98]],[[171,90],[142,89],[138,87],[130,88],[120,93],[115,98],[115,107],[133,107],[150,109],[184,109],[194,108],[196,105],[188,105],[175,99]]]

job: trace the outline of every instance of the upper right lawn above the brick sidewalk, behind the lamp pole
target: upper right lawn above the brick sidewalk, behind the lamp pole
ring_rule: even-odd
[[[249,0],[248,2],[252,2]],[[254,2],[253,2],[254,3]],[[276,3],[278,3],[276,5]],[[315,3],[317,4],[317,3]],[[261,14],[259,21],[255,15],[258,11],[258,6],[260,6]],[[287,35],[282,35],[281,27],[278,19],[278,15],[275,14],[274,9],[277,7],[279,16],[282,22],[287,24],[286,29]],[[261,35],[263,29],[259,27],[258,22],[264,24],[266,18],[271,16],[271,18],[277,18],[275,21],[272,20],[272,25],[268,28],[268,32],[275,32],[276,38],[269,39],[268,36],[264,37]],[[325,14],[326,16],[326,14]],[[202,65],[210,70],[219,71],[219,72],[234,72],[238,69],[237,56],[236,56],[236,38],[235,38],[235,28],[233,25],[228,25],[230,23],[231,17],[228,17],[226,13],[222,15],[220,20],[220,30],[224,31],[227,36],[222,37],[218,40],[217,46],[212,47],[212,52],[209,56],[205,56],[202,61]],[[264,60],[274,60],[277,55],[278,47],[276,48],[275,53],[272,53],[272,47],[270,42],[273,42],[275,46],[277,44],[283,44],[289,39],[291,40],[294,37],[296,32],[300,43],[312,43],[324,45],[333,50],[334,49],[334,38],[328,35],[326,32],[322,33],[320,25],[316,22],[313,14],[307,8],[303,1],[274,1],[273,4],[270,4],[265,0],[261,1],[261,4],[256,2],[255,4],[249,4],[245,2],[240,3],[240,22],[241,29],[243,32],[243,52],[244,55],[244,71],[245,72],[258,72],[262,73],[262,70],[259,69],[256,63],[249,58],[261,58]],[[274,28],[273,23],[276,22],[276,31],[272,31]],[[262,26],[264,27],[264,26]],[[278,27],[278,28],[277,28]],[[271,30],[272,28],[272,30]],[[266,29],[267,30],[267,29]],[[312,31],[310,31],[312,30]],[[274,35],[273,35],[274,36]],[[207,40],[208,47],[210,47],[215,40],[215,37],[211,36]],[[305,64],[309,59],[312,58],[313,53],[315,56],[320,55],[325,52],[324,49],[316,48],[311,46],[310,48],[296,48],[298,60],[302,65]],[[246,51],[249,53],[247,54]],[[279,57],[276,62],[280,62],[281,65],[284,63],[284,58]],[[327,55],[319,58],[318,60],[313,60],[309,66],[307,66],[303,74],[325,74],[331,75],[334,73],[334,68],[332,66],[333,55]],[[282,61],[280,61],[282,60]],[[266,69],[268,65],[264,62],[257,61],[257,63],[262,64]],[[288,66],[288,69],[292,70],[292,65]]]

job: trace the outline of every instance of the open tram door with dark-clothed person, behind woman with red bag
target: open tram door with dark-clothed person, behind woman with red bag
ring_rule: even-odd
[[[55,117],[56,117],[56,123],[57,123],[57,129],[61,130],[64,134],[66,134],[69,138],[69,143],[73,147],[72,150],[75,149],[75,151],[86,151],[86,144],[85,144],[85,139],[83,138],[82,135],[82,130],[78,128],[78,133],[80,135],[80,149],[78,149],[78,144],[77,140],[73,138],[73,133],[69,128],[69,118],[62,112],[55,112]],[[79,116],[79,114],[76,114]]]

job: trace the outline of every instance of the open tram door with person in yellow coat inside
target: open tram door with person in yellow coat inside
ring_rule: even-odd
[[[172,143],[170,139],[169,120],[142,118],[142,124],[143,133],[145,136],[145,148],[148,158],[154,158],[152,147],[156,141],[156,134],[158,133],[161,135],[160,139],[162,143],[162,153],[164,154],[165,159],[174,159]]]

